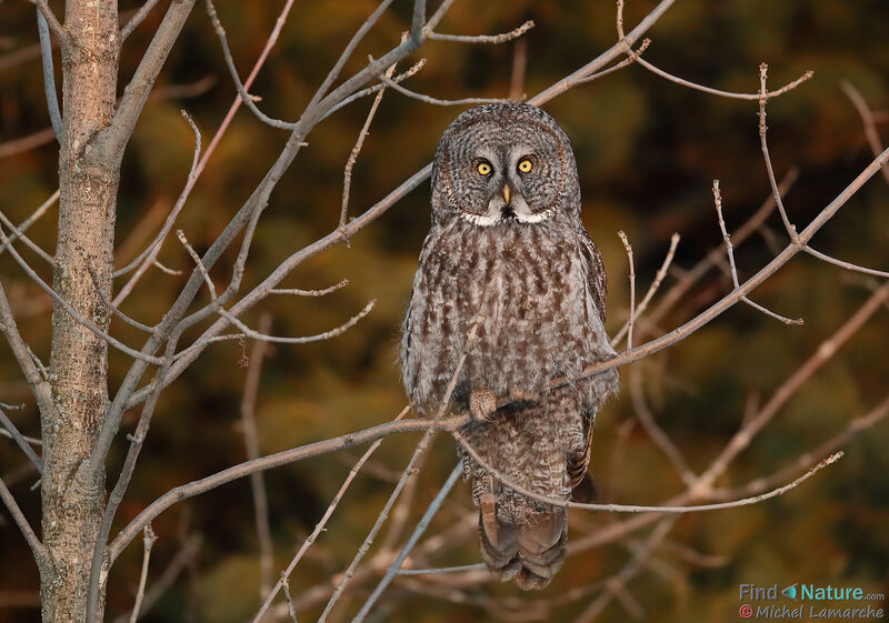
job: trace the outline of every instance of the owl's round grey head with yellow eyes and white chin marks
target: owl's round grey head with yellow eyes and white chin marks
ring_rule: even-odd
[[[576,220],[580,185],[568,137],[530,104],[467,110],[444,131],[432,168],[432,219],[478,227]]]

